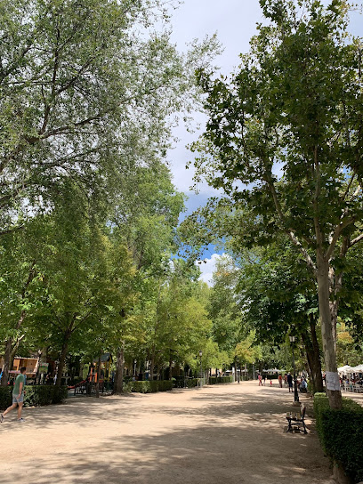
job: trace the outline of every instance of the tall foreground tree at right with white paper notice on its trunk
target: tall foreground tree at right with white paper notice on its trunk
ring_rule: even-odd
[[[363,239],[362,45],[348,36],[346,2],[260,4],[270,23],[236,74],[199,72],[209,120],[195,163],[249,207],[246,243],[283,233],[303,255],[318,286],[327,395],[340,408],[337,311],[346,254]]]

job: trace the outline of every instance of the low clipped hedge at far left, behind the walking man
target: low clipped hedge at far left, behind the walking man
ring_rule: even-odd
[[[28,385],[25,388],[24,407],[43,407],[60,403],[68,397],[67,386]],[[12,405],[12,385],[0,386],[0,408]]]

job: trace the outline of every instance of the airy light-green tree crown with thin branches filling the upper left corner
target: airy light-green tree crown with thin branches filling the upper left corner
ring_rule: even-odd
[[[215,42],[179,54],[167,28],[155,32],[163,4],[2,2],[0,235],[52,207],[62,178],[105,195],[130,165],[165,154],[168,117],[190,103]]]

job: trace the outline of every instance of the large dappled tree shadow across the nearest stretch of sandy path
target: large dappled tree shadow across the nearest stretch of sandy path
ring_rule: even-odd
[[[200,425],[157,435],[93,440],[76,452],[18,464],[12,479],[15,483],[26,476],[29,484],[303,484],[321,483],[329,475],[316,445],[307,455],[305,439],[281,439],[276,427],[264,424],[243,429]],[[0,476],[0,483],[10,484],[9,477]]]

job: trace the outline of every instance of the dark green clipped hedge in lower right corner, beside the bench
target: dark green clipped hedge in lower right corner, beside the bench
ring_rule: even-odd
[[[343,399],[343,408],[332,410],[326,394],[315,393],[314,413],[327,456],[352,480],[363,480],[363,407],[352,399]]]

